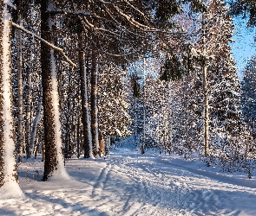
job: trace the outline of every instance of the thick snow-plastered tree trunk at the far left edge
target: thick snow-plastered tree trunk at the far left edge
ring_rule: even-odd
[[[10,73],[10,13],[0,0],[0,194],[1,198],[20,197],[12,118]]]

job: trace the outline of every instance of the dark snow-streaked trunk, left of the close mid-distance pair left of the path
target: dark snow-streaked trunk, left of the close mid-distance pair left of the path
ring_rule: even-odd
[[[89,118],[89,98],[88,98],[88,86],[87,86],[87,73],[85,67],[84,53],[82,51],[82,34],[78,35],[79,44],[79,73],[80,73],[80,89],[82,98],[82,132],[83,132],[83,149],[84,157],[94,157],[92,149],[92,134],[90,128]]]

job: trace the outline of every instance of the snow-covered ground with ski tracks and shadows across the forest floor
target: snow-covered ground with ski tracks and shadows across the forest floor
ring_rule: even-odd
[[[121,148],[66,168],[71,180],[40,181],[43,162],[20,164],[26,198],[0,200],[0,215],[256,215],[255,176],[202,162]]]

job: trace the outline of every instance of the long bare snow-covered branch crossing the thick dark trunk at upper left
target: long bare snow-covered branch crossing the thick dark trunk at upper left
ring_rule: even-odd
[[[66,60],[66,61],[69,63],[69,65],[71,65],[72,67],[76,67],[75,63],[74,63],[72,60],[69,60],[69,57],[68,57],[66,54],[64,54],[62,48],[56,47],[55,45],[53,45],[53,44],[50,43],[49,41],[44,40],[42,37],[36,35],[35,33],[29,31],[28,29],[24,29],[22,26],[16,24],[15,22],[11,22],[11,24],[12,24],[14,27],[16,27],[16,29],[20,29],[20,30],[22,30],[23,32],[26,32],[27,34],[32,35],[32,36],[33,36],[34,38],[36,38],[37,40],[42,41],[42,42],[43,42],[44,44],[46,44],[49,48],[53,48],[54,50],[56,50],[57,52],[59,52],[60,54],[62,54],[64,60]]]

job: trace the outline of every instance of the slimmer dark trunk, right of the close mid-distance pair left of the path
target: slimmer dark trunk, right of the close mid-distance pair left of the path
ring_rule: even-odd
[[[94,155],[100,155],[99,146],[99,124],[98,124],[98,60],[95,49],[92,52],[92,68],[91,68],[91,133]]]

